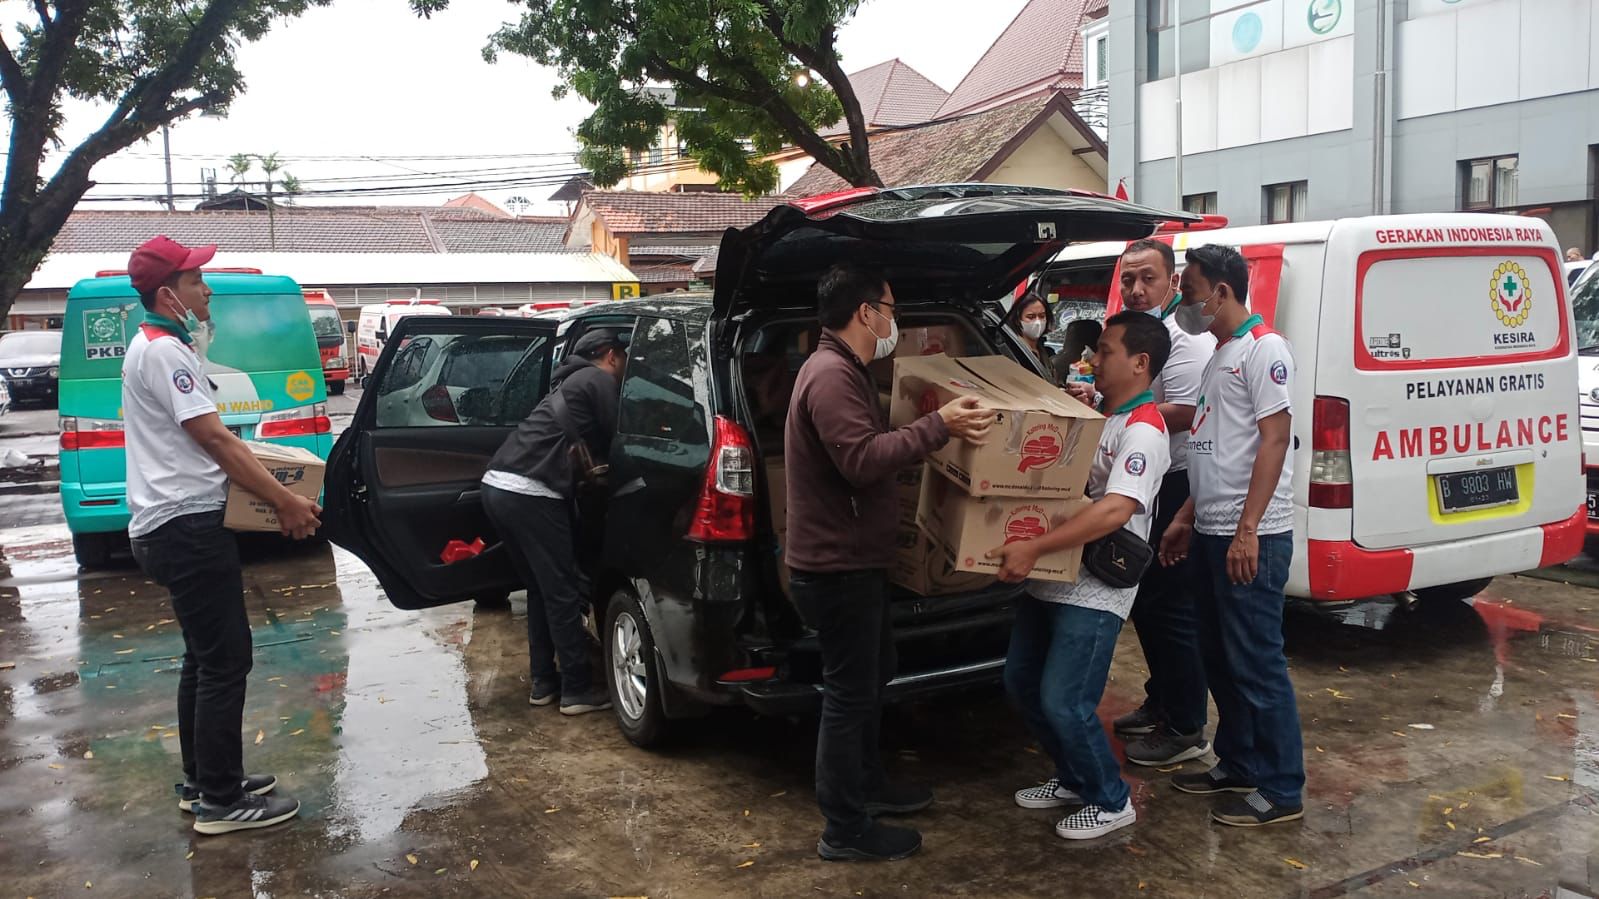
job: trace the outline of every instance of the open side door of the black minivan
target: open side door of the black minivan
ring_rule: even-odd
[[[413,315],[389,334],[328,456],[323,533],[377,574],[395,606],[521,587],[478,478],[550,389],[556,325]]]

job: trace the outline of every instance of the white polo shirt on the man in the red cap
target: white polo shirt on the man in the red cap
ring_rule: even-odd
[[[216,413],[205,365],[177,333],[144,323],[122,360],[128,536],[227,504],[227,475],[184,422]]]

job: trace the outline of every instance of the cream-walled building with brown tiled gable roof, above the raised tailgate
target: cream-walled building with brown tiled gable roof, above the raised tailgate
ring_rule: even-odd
[[[878,131],[871,165],[887,186],[988,181],[1105,190],[1107,149],[1065,93],[1014,99],[987,112]],[[788,187],[811,197],[847,187],[812,165]]]

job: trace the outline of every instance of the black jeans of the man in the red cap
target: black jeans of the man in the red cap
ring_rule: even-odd
[[[177,678],[177,745],[184,779],[209,803],[243,795],[245,678],[254,662],[245,614],[245,573],[238,539],[222,512],[181,515],[134,537],[133,558],[173,595],[184,632]]]

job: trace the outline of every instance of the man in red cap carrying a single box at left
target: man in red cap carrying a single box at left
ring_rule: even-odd
[[[275,505],[285,536],[310,536],[321,512],[280,485],[217,416],[192,334],[209,328],[211,288],[200,266],[214,254],[216,246],[190,250],[165,237],[133,251],[128,275],[146,317],[122,370],[128,536],[139,568],[171,592],[184,632],[177,808],[195,814],[200,833],[269,827],[299,813],[297,801],[267,795],[277,777],[245,776],[240,728],[253,646],[238,544],[222,528],[229,480]]]

